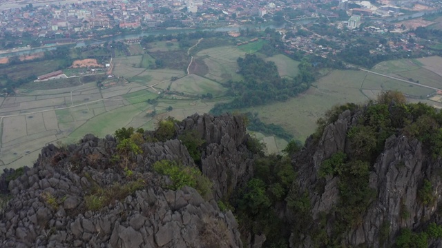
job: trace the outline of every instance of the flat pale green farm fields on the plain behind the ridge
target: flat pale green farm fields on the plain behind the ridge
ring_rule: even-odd
[[[206,70],[200,70],[206,74],[199,76],[170,68],[151,69],[155,59],[144,53],[113,59],[113,74],[129,82],[126,84],[108,89],[97,89],[95,83],[54,90],[20,89],[27,95],[0,101],[0,113],[10,116],[2,118],[0,157],[8,167],[17,167],[23,165],[21,161],[30,161],[31,155],[35,156],[44,143],[77,142],[85,134],[105,136],[120,127],[153,129],[155,123],[166,116],[181,120],[195,112],[209,112],[215,103],[231,101],[224,96],[227,88],[220,83],[242,80],[237,73],[238,56],[244,56],[247,50],[253,52],[259,49],[263,42],[249,43],[243,48],[229,45],[200,50],[194,58],[206,65]],[[160,44],[164,45],[164,52],[175,50],[176,44]],[[156,45],[160,48],[159,44]],[[131,52],[140,53],[139,49],[132,47]],[[264,54],[259,56],[265,58]],[[281,76],[294,77],[298,74],[299,62],[285,55],[265,59],[276,63]],[[436,56],[385,61],[373,70],[419,81],[423,85],[442,87],[442,58]],[[172,77],[177,79],[172,81]],[[164,94],[168,90],[184,94]],[[369,72],[335,70],[314,82],[307,92],[288,101],[239,111],[257,112],[263,122],[281,125],[295,138],[305,141],[316,129],[316,120],[332,105],[363,103],[376,99],[385,90],[400,90],[412,101],[422,99],[430,104],[425,99],[428,94],[434,93],[434,90],[419,85]],[[207,93],[211,93],[213,99],[201,100],[199,96]],[[157,103],[150,104],[147,102],[149,99],[157,99]],[[152,116],[152,112],[157,114]],[[287,145],[287,141],[269,134],[255,135],[267,144],[269,152],[278,152]],[[8,153],[7,156],[4,152]]]

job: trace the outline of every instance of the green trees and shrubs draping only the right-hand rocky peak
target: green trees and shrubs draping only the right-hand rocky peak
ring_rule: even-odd
[[[334,215],[334,234],[322,239],[322,245],[339,245],[342,234],[349,227],[361,225],[362,216],[371,200],[376,197],[374,189],[369,188],[369,172],[376,158],[383,151],[385,140],[392,136],[407,136],[421,141],[428,154],[433,158],[441,156],[442,113],[423,103],[406,103],[399,92],[386,92],[367,105],[347,104],[333,107],[318,121],[318,134],[322,134],[329,123],[338,119],[338,115],[350,110],[358,114],[358,123],[347,132],[351,144],[350,151],[338,152],[321,163],[318,172],[320,180],[329,176],[338,177],[340,201]],[[430,180],[424,179],[418,192],[418,199],[423,205],[433,205],[435,196]],[[409,218],[407,209],[401,209],[401,218]],[[385,227],[388,234],[388,227]],[[433,235],[433,234],[432,234]],[[387,238],[384,237],[385,240]],[[404,229],[398,237],[398,247],[426,247],[427,234],[413,234]]]

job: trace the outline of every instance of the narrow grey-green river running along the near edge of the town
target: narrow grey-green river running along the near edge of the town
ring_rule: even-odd
[[[305,22],[305,21],[304,21]],[[304,24],[304,23],[300,23],[300,24]],[[144,31],[141,33],[137,33],[137,34],[120,34],[120,35],[116,35],[114,37],[108,37],[108,38],[103,38],[101,39],[101,41],[95,41],[93,43],[89,43],[86,44],[84,42],[78,42],[75,45],[75,48],[81,48],[85,45],[96,45],[96,44],[100,44],[100,43],[104,43],[106,41],[120,41],[120,40],[124,40],[124,39],[136,39],[138,37],[143,37],[144,35],[148,36],[148,35],[161,35],[161,34],[177,34],[180,32],[196,32],[196,31],[215,31],[215,32],[229,32],[229,31],[239,31],[240,29],[245,29],[245,28],[257,28],[257,29],[261,29],[264,30],[266,28],[284,28],[285,27],[285,23],[281,23],[280,25],[278,25],[277,23],[271,23],[271,24],[260,24],[260,25],[244,25],[244,26],[236,26],[236,27],[221,27],[221,28],[200,28],[200,29],[173,29],[173,30],[148,30],[148,31]],[[28,49],[28,50],[20,50],[17,52],[5,52],[0,54],[0,58],[6,57],[6,56],[19,56],[19,55],[24,55],[24,54],[34,54],[37,52],[45,52],[45,51],[50,51],[50,50],[55,50],[57,49],[57,45],[51,45],[48,47],[43,47],[43,48],[32,48],[32,49]]]

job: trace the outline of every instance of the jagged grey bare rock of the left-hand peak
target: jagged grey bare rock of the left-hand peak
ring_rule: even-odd
[[[224,166],[233,173],[233,186],[238,185],[250,165],[238,158],[241,149],[248,152],[240,120],[229,115],[191,118],[204,126],[202,136],[214,147],[208,150],[218,151],[206,152],[203,159],[215,161],[211,178],[220,178]],[[200,126],[189,121],[186,127]],[[130,166],[145,185],[88,210],[86,198],[93,189],[136,181],[124,174],[124,165],[113,162],[116,146],[112,136],[88,134],[77,145],[44,147],[35,166],[8,185],[12,198],[0,216],[0,247],[242,247],[231,211],[220,211],[215,199],[204,200],[191,187],[166,189],[170,181],[151,172],[151,165],[163,159],[195,166],[179,140],[143,144],[143,154],[132,154]],[[220,192],[230,186],[223,180],[215,185]]]

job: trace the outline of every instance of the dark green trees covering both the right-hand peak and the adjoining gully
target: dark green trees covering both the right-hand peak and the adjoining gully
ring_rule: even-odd
[[[243,234],[266,234],[265,247],[287,247],[290,231],[294,234],[290,240],[294,244],[300,244],[308,235],[315,247],[342,247],[346,232],[362,224],[367,208],[376,198],[376,190],[369,187],[369,174],[388,137],[417,138],[428,154],[434,158],[441,156],[442,136],[437,134],[442,130],[442,114],[433,107],[406,103],[401,93],[386,92],[364,106],[349,103],[333,107],[318,121],[316,137],[345,110],[358,116],[358,123],[347,132],[352,148],[347,153],[337,152],[320,164],[315,188],[323,192],[326,181],[337,178],[340,197],[334,209],[321,214],[318,222],[312,222],[309,193],[294,183],[296,167],[289,159],[300,149],[296,141],[291,141],[285,149],[289,156],[265,156],[258,152],[259,144],[254,145],[251,147],[256,149],[252,150],[260,158],[254,162],[253,178],[229,198],[229,204],[224,204],[226,200],[223,202],[234,209]],[[434,190],[430,178],[424,179],[416,200],[422,205],[434,205]],[[287,206],[290,219],[276,217],[276,209],[281,204]],[[401,218],[410,218],[408,209],[404,204],[401,206]],[[325,229],[331,219],[333,229],[327,234]],[[420,233],[404,229],[396,246],[426,247],[427,239],[439,237],[441,230],[442,227],[434,223]],[[384,223],[380,230],[381,243],[387,242],[390,235],[390,225]]]

